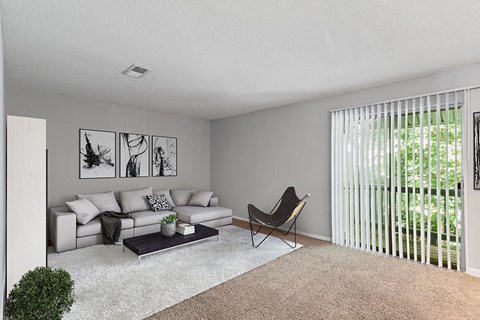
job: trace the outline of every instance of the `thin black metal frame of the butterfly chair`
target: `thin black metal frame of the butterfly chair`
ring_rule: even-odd
[[[283,197],[283,196],[282,196]],[[280,199],[277,201],[277,203],[275,204],[275,206],[273,207],[273,209],[270,211],[269,215],[272,215],[272,213],[275,211],[275,209],[277,208],[277,206],[280,204],[280,202],[282,201],[282,197],[280,197]],[[254,248],[258,248],[265,240],[267,240],[267,238],[270,236],[270,235],[273,235],[274,237],[282,240],[287,246],[289,246],[291,249],[295,249],[297,247],[297,219],[298,217],[300,216],[300,214],[302,213],[302,210],[303,208],[305,207],[305,204],[306,204],[306,200],[310,197],[310,194],[307,194],[305,197],[303,197],[298,205],[295,207],[295,209],[292,210],[292,215],[282,224],[277,224],[275,222],[275,220],[272,219],[273,221],[273,225],[270,225],[270,224],[267,224],[267,223],[264,223],[263,221],[260,221],[258,220],[256,217],[252,216],[250,214],[250,212],[248,212],[248,220],[250,222],[250,235],[252,237],[252,246]],[[298,213],[296,213],[295,215],[293,215],[293,213],[295,212],[295,210],[298,208],[298,206],[302,206],[300,208],[300,210],[298,211]],[[258,229],[256,231],[254,231],[253,229],[253,223],[252,223],[252,218],[258,223],[260,224],[260,226],[258,227]],[[290,227],[288,228],[288,230],[284,233],[282,232],[282,230],[279,228],[281,226],[283,226],[284,224],[286,224],[289,220],[291,220],[293,218],[293,222],[292,224],[290,225]],[[260,243],[258,243],[257,245],[255,245],[255,240],[254,240],[254,236],[256,236],[260,230],[263,228],[263,227],[269,227],[271,228],[270,232],[267,233],[267,235],[262,239],[262,241],[260,241]],[[292,246],[291,244],[289,244],[287,241],[285,241],[280,235],[276,234],[275,231],[278,231],[280,232],[282,235],[286,236],[290,233],[290,231],[292,230],[292,227],[293,227],[293,230],[294,230],[294,236],[295,236],[295,243],[294,245]]]

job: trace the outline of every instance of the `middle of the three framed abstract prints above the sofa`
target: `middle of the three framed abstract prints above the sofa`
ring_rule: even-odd
[[[120,177],[148,177],[149,136],[120,133]]]

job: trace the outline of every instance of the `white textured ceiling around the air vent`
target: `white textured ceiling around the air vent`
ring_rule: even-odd
[[[7,86],[203,119],[480,61],[480,1],[1,0]],[[152,72],[121,74],[133,63]]]

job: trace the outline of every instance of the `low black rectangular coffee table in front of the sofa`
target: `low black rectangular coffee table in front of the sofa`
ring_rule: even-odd
[[[183,246],[215,236],[217,236],[218,239],[217,229],[197,224],[195,225],[195,233],[185,236],[180,233],[175,233],[174,236],[168,238],[164,237],[161,232],[157,232],[123,239],[123,251],[125,252],[125,247],[130,249],[138,256],[138,260],[140,260],[144,256],[154,254],[162,250]]]

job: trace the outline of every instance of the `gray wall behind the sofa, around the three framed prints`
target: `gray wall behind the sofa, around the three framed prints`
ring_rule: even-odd
[[[48,205],[64,205],[75,193],[154,189],[210,189],[210,122],[158,111],[6,88],[9,115],[47,120]],[[79,179],[79,129],[177,137],[177,177]],[[25,150],[28,156],[28,150]]]

